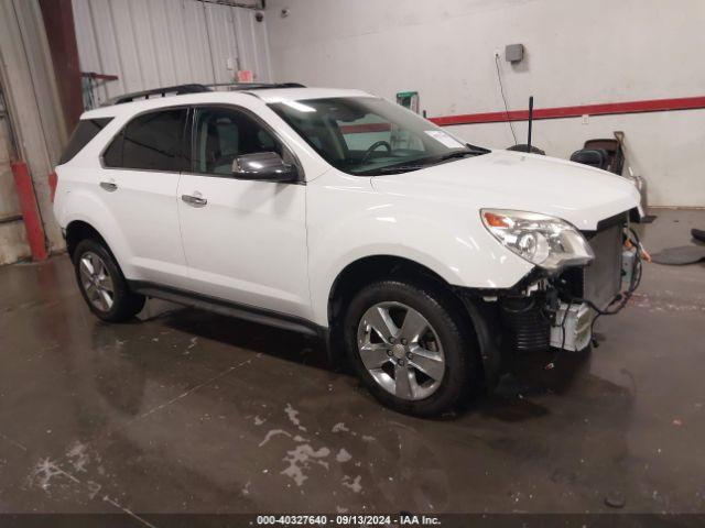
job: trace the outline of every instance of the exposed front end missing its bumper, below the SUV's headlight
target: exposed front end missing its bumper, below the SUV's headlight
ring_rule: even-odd
[[[478,331],[490,377],[517,353],[587,349],[595,320],[618,312],[638,287],[642,250],[626,213],[582,234],[594,254],[587,264],[555,272],[535,267],[511,289],[462,293],[473,319],[482,317],[491,336],[482,343]]]

